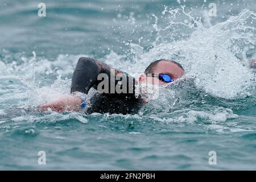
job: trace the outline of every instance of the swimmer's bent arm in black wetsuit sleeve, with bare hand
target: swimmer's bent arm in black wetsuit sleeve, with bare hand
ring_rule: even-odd
[[[122,73],[115,69],[116,74]],[[106,73],[110,75],[110,67],[107,64],[90,59],[88,57],[81,57],[76,65],[72,77],[71,94],[84,93],[88,94],[89,89],[97,88],[98,75]],[[81,109],[82,99],[75,96],[65,96],[59,100],[48,102],[38,107],[40,111],[79,111]]]

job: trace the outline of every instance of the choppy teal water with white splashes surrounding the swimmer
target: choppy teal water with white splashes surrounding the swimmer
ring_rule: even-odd
[[[39,1],[0,2],[0,169],[256,169],[253,0],[213,1],[212,17],[199,0],[44,2],[41,18]],[[81,56],[186,75],[137,115],[34,111],[69,93]]]

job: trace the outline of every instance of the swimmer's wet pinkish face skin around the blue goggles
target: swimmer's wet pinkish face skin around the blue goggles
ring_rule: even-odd
[[[156,65],[154,65],[154,67],[151,68],[150,73],[166,74],[170,76],[173,81],[177,80],[178,78],[182,77],[185,74],[184,70],[179,65],[166,60],[162,60]],[[150,74],[148,75],[145,73],[139,76],[139,82],[153,84],[153,85],[168,84],[168,82],[159,80],[158,77],[152,77]]]

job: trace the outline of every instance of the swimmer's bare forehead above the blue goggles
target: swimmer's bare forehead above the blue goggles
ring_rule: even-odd
[[[154,73],[166,73],[174,77],[182,77],[185,73],[179,65],[166,60],[160,61],[156,64],[153,71]]]

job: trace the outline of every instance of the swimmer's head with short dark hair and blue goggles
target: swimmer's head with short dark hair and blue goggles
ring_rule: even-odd
[[[185,71],[179,63],[161,59],[148,65],[144,73],[139,76],[139,82],[165,85],[177,80],[177,78],[182,77],[184,74]]]

